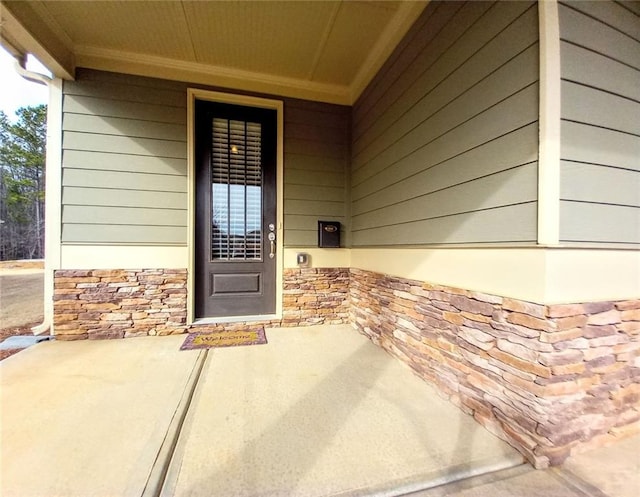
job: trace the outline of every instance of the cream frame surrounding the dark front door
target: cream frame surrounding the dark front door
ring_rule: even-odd
[[[258,107],[276,111],[276,313],[260,316],[234,316],[195,319],[195,224],[196,224],[196,161],[195,161],[195,103],[206,100],[223,104]],[[236,95],[219,91],[187,89],[187,246],[189,262],[187,267],[187,325],[224,323],[238,321],[258,321],[282,318],[283,283],[283,219],[284,219],[284,102],[282,100],[248,95]]]

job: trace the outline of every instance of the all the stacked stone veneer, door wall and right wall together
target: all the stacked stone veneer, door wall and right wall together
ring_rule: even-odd
[[[183,269],[60,270],[58,339],[123,338],[186,325]],[[351,321],[536,467],[640,431],[640,300],[540,305],[346,268],[287,269],[280,319]]]

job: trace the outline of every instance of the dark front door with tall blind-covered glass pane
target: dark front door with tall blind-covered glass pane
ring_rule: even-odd
[[[196,101],[196,318],[276,310],[276,111]]]

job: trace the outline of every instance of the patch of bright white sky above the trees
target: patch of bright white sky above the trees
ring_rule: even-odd
[[[31,59],[31,58],[30,58]],[[49,90],[44,85],[27,81],[13,68],[13,57],[0,47],[0,110],[15,120],[19,107],[46,104]],[[36,59],[27,62],[31,71],[47,74],[48,71]]]

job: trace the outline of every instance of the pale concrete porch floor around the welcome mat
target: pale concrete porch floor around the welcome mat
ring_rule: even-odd
[[[498,495],[486,478],[542,476],[349,326],[208,352],[184,338],[46,342],[0,363],[0,494]],[[438,487],[483,474],[466,481],[489,493]]]

